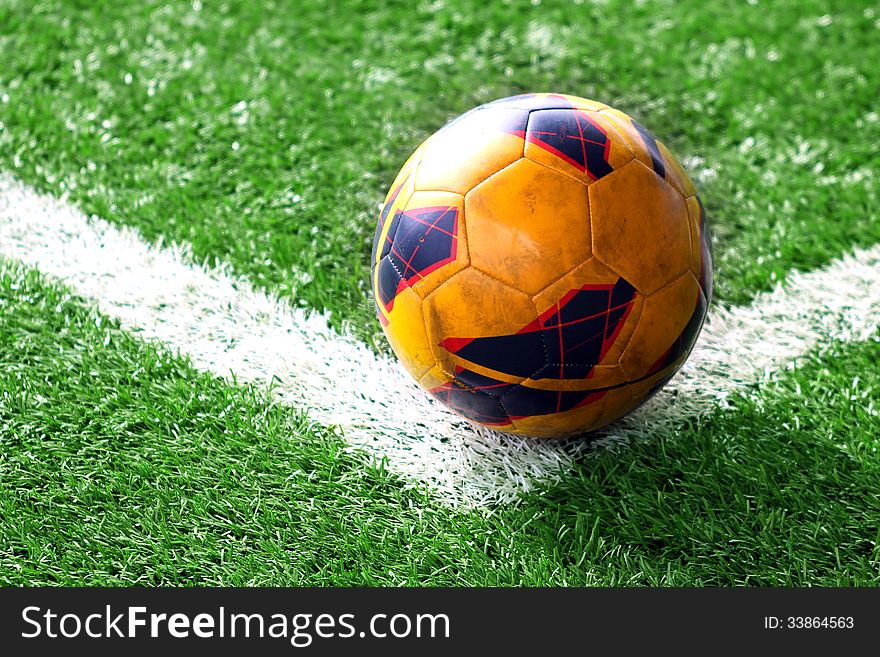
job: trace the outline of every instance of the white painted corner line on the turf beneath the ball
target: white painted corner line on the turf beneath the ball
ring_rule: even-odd
[[[196,367],[269,384],[285,404],[337,425],[353,449],[426,483],[452,506],[516,501],[558,481],[583,441],[548,442],[478,429],[422,392],[396,362],[340,336],[225,268],[193,264],[0,174],[0,254],[57,277],[107,315],[189,356]],[[793,273],[748,307],[713,310],[682,372],[605,441],[674,429],[831,339],[880,325],[880,245]]]

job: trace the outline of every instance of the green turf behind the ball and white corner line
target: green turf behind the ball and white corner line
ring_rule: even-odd
[[[475,104],[576,93],[712,168],[716,292],[741,303],[880,240],[878,20],[848,0],[6,0],[0,167],[374,341],[376,204],[408,153]]]

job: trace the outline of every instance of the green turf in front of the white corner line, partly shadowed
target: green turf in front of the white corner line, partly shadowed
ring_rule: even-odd
[[[454,513],[0,261],[0,585],[878,585],[880,341]]]

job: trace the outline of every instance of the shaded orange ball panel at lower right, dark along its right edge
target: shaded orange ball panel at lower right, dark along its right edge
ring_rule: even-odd
[[[706,315],[705,298],[688,271],[648,296],[639,324],[621,357],[630,380],[680,366],[697,338]]]

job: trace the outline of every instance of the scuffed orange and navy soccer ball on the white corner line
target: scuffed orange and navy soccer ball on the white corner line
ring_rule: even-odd
[[[682,366],[712,295],[693,184],[592,100],[525,94],[425,141],[382,207],[371,260],[385,335],[464,417],[541,437],[592,431]]]

